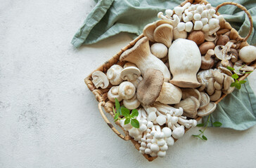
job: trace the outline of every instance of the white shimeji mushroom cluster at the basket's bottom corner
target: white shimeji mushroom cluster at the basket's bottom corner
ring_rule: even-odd
[[[174,144],[174,139],[181,138],[185,128],[195,127],[197,124],[196,120],[187,120],[182,114],[182,108],[176,109],[155,102],[139,109],[139,116],[136,118],[140,123],[139,129],[130,124],[124,125],[124,120],[120,120],[120,124],[135,141],[139,141],[140,153],[165,157],[168,146]]]

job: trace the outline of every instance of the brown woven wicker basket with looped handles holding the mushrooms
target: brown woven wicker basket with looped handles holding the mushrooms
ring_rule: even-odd
[[[185,3],[190,2],[191,4],[196,4],[196,3],[205,3],[207,4],[207,1],[205,0],[186,0],[183,3],[181,3],[181,6],[184,6]],[[231,27],[231,25],[229,25],[228,22],[224,21],[220,23],[220,29],[229,29],[231,30],[231,33],[229,34],[229,38],[233,41],[236,41],[236,44],[238,44],[238,49],[243,48],[243,46],[245,45],[249,45],[246,41],[249,38],[250,34],[252,33],[252,17],[250,15],[250,13],[248,12],[248,10],[246,10],[245,7],[241,6],[238,3],[233,3],[233,2],[225,2],[220,4],[219,6],[217,6],[216,11],[225,5],[235,5],[238,8],[241,8],[242,10],[245,11],[245,13],[248,15],[248,18],[250,20],[250,31],[248,32],[248,36],[246,36],[245,38],[242,38],[241,36],[239,36],[238,32],[233,29]],[[217,13],[217,15],[219,15],[219,13]],[[124,65],[125,62],[120,62],[119,58],[120,55],[122,55],[122,52],[124,52],[125,50],[132,48],[134,46],[134,44],[139,41],[139,39],[143,38],[143,34],[141,34],[140,36],[138,36],[137,38],[135,38],[133,41],[131,41],[127,46],[125,46],[124,48],[122,48],[120,50],[120,52],[118,52],[116,55],[114,55],[111,59],[109,59],[107,62],[105,62],[102,66],[100,66],[98,69],[94,70],[94,71],[103,71],[104,73],[106,73],[108,71],[108,69],[110,68],[110,66],[112,66],[113,64],[119,64],[121,66]],[[167,58],[165,57],[164,59],[162,59],[163,62],[167,62]],[[256,68],[256,64],[255,62],[251,62],[250,64],[248,64],[250,66],[254,66]],[[93,72],[92,72],[93,73]],[[114,113],[113,113],[113,102],[108,101],[108,90],[110,90],[110,88],[112,87],[112,85],[110,84],[106,89],[96,89],[96,87],[94,86],[94,84],[92,83],[92,78],[91,78],[91,74],[89,74],[89,76],[87,76],[87,78],[84,79],[85,83],[87,84],[87,87],[89,88],[89,90],[91,90],[91,92],[94,93],[96,100],[99,102],[98,103],[98,109],[101,113],[101,116],[103,117],[103,119],[105,120],[105,123],[108,124],[108,126],[113,130],[113,132],[115,132],[115,134],[117,134],[118,137],[120,137],[121,139],[124,139],[125,141],[132,141],[132,144],[134,144],[135,148],[137,150],[139,150],[140,144],[137,141],[134,141],[134,139],[132,139],[132,137],[129,136],[128,132],[125,131],[119,121],[117,120],[117,122],[115,122],[116,125],[118,125],[123,131],[124,131],[124,135],[120,134],[120,132],[118,132],[115,127],[109,122],[108,118],[106,118],[105,113],[103,113],[103,109],[105,109],[106,113],[109,113],[111,116],[113,116],[114,118]],[[243,80],[245,79],[250,73],[247,73],[243,76],[241,76],[240,78],[238,78],[238,80]],[[215,104],[218,104],[224,97],[226,97],[226,94],[223,94],[222,97],[220,97]],[[103,107],[103,109],[102,109]],[[196,118],[196,120],[200,120],[200,117]],[[186,129],[188,130],[188,129]],[[175,139],[175,141],[177,141],[177,139]],[[157,157],[151,157],[150,155],[147,154],[143,154],[143,156],[148,160],[148,161],[153,161],[155,158]]]

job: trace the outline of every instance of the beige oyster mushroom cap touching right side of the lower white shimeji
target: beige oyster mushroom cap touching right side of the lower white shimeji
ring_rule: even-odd
[[[187,97],[184,100],[181,100],[179,104],[176,104],[175,107],[181,107],[184,110],[183,115],[189,118],[195,118],[198,108],[200,106],[200,102],[196,97]]]

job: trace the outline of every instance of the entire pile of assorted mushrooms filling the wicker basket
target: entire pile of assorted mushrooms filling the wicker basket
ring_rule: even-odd
[[[95,87],[108,90],[127,109],[138,109],[139,128],[120,125],[138,141],[140,153],[164,157],[185,128],[195,127],[198,116],[216,109],[222,94],[233,92],[234,79],[253,71],[256,47],[238,43],[231,27],[210,3],[177,6],[158,13],[146,25],[143,37],[120,55],[124,66],[114,64],[107,73],[95,71]],[[121,116],[122,117],[122,116]]]

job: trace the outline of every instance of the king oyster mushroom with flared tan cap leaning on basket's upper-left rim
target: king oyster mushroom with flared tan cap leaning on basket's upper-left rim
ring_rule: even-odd
[[[165,81],[171,78],[167,66],[155,57],[155,55],[152,55],[147,37],[141,38],[132,48],[122,52],[120,61],[128,61],[136,64],[142,76],[147,69],[158,69],[163,73]]]

